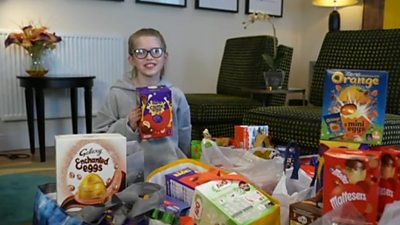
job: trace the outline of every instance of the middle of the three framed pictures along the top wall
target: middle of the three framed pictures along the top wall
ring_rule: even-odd
[[[195,8],[237,13],[239,12],[239,0],[196,0]]]

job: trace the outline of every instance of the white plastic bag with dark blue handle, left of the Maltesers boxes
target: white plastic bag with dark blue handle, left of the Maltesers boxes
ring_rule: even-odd
[[[289,155],[289,149],[294,148],[296,154],[293,158],[293,167],[287,169],[286,161],[281,167],[281,178],[272,192],[272,197],[281,203],[281,224],[287,225],[289,222],[289,205],[315,196],[315,188],[311,186],[312,178],[300,169],[300,149],[294,142],[286,147],[286,156]],[[289,174],[291,174],[289,176]]]

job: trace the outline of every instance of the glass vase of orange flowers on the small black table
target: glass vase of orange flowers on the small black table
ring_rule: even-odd
[[[54,49],[60,41],[61,37],[48,32],[47,27],[28,25],[22,27],[22,32],[10,33],[4,44],[6,47],[12,44],[23,47],[30,59],[26,72],[31,76],[44,76],[48,69],[43,65],[43,54]]]

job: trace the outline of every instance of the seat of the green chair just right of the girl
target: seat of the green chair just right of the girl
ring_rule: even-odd
[[[219,94],[186,94],[192,123],[241,123],[250,109],[262,106],[261,102]],[[233,129],[233,128],[232,128]]]

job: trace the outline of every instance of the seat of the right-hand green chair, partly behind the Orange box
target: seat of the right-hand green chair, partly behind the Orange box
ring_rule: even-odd
[[[275,144],[286,145],[290,140],[296,140],[302,155],[316,154],[321,133],[321,107],[259,107],[244,115],[243,124],[266,124]],[[383,144],[399,145],[399,136],[400,115],[386,114]]]

